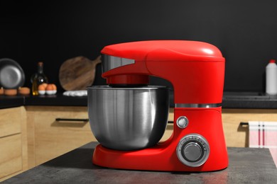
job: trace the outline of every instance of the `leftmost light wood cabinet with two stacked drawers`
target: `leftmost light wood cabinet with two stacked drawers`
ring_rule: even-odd
[[[28,168],[25,108],[0,109],[0,130],[0,180],[4,180]]]

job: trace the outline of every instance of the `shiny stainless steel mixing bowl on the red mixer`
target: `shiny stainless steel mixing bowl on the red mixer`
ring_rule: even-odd
[[[102,146],[135,150],[154,146],[168,121],[168,88],[87,88],[89,123]]]

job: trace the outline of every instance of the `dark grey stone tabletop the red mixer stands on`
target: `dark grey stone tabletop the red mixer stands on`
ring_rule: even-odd
[[[97,142],[13,176],[3,183],[276,183],[277,169],[268,149],[228,148],[229,166],[205,173],[126,171],[92,164]]]

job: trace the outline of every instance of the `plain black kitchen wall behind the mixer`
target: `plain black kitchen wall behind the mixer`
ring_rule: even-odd
[[[0,1],[0,58],[16,60],[26,86],[36,63],[58,84],[66,59],[94,59],[105,45],[136,40],[198,40],[226,58],[224,91],[264,91],[277,57],[277,1]],[[94,85],[104,84],[97,66]],[[154,84],[163,83],[153,79]]]

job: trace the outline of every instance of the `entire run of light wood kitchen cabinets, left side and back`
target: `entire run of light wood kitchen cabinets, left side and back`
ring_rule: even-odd
[[[26,105],[0,109],[0,180],[96,141],[89,122],[56,118],[87,119],[87,106]],[[170,108],[168,120],[173,119]],[[227,146],[249,146],[249,127],[239,125],[248,121],[277,122],[277,109],[223,108]],[[173,123],[168,123],[161,141],[172,133]]]

